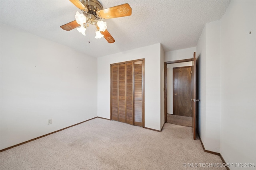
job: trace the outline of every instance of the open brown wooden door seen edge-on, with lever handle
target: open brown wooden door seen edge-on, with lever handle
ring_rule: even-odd
[[[193,138],[196,140],[196,52],[194,52],[192,61],[192,74],[191,74],[191,105],[192,105],[192,131]]]

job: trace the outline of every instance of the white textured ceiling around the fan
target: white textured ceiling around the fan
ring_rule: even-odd
[[[69,0],[1,0],[1,23],[44,37],[92,57],[161,43],[164,51],[195,47],[205,23],[220,20],[230,1],[99,0],[103,8],[128,3],[132,15],[104,20],[116,40],[95,39],[95,27],[86,36],[60,28],[78,8]],[[81,12],[80,12],[81,13]],[[90,43],[88,41],[90,40]]]

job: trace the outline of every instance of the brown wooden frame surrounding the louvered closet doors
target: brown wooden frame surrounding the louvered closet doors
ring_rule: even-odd
[[[126,63],[131,63],[133,62],[133,66],[134,66],[134,62],[137,61],[142,61],[142,127],[145,127],[145,115],[144,115],[144,111],[145,111],[145,59],[138,59],[138,60],[132,60],[132,61],[124,61],[124,62],[120,62],[120,63],[114,63],[114,64],[110,64],[110,120],[112,120],[112,65],[119,65],[119,64],[126,64]],[[134,69],[133,69],[134,72]],[[134,73],[133,73],[133,81],[134,81]],[[134,82],[133,82],[133,97],[134,97]],[[133,107],[134,107],[134,100],[133,100]],[[134,108],[133,108],[133,114],[134,114]],[[134,119],[134,116],[133,116]],[[133,124],[134,124],[134,120],[133,120]]]

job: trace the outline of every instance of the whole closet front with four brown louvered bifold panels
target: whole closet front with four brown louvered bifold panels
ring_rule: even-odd
[[[144,59],[110,64],[110,119],[144,127]]]

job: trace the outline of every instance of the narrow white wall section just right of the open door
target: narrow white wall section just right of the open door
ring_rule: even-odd
[[[206,24],[206,150],[220,152],[220,21]]]

